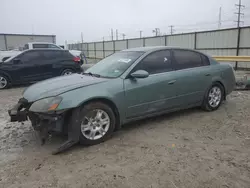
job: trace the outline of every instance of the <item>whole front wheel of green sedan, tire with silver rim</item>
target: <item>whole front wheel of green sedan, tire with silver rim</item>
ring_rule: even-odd
[[[97,111],[102,112],[102,116],[100,117],[99,124],[98,124],[98,120],[93,119],[92,123],[90,123],[91,126],[88,126],[87,125],[88,124],[87,122],[89,122],[88,120],[91,121],[90,116],[97,118],[97,113],[96,113]],[[107,120],[105,122],[109,122],[109,123],[107,123],[105,126],[104,125],[101,126],[102,120],[106,118]],[[80,112],[80,119],[81,119],[80,120],[81,126],[80,126],[79,139],[82,145],[91,146],[91,145],[102,143],[106,141],[107,139],[109,139],[112,133],[114,132],[115,122],[116,122],[115,114],[108,105],[102,102],[92,102],[84,106]],[[101,128],[102,128],[102,131],[101,131]],[[87,129],[96,131],[95,137],[90,136],[91,131],[90,130],[88,131]],[[101,135],[101,132],[103,135]]]

